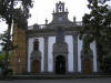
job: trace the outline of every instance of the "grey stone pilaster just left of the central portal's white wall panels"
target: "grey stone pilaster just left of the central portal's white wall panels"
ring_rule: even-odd
[[[44,37],[44,73],[48,72],[48,37]]]

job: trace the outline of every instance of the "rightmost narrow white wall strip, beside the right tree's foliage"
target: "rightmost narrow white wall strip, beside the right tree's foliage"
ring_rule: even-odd
[[[95,41],[90,44],[91,50],[93,51],[93,72],[98,72],[97,70],[97,48]]]

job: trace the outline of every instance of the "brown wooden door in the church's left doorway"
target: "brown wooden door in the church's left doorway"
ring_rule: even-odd
[[[32,70],[31,71],[33,74],[40,73],[40,61],[39,60],[32,61]]]

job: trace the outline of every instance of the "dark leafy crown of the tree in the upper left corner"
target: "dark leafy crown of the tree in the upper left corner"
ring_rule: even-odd
[[[8,24],[14,20],[20,25],[30,17],[29,8],[32,8],[32,0],[0,0],[0,18]],[[26,27],[22,24],[23,27]],[[22,27],[21,25],[21,27]]]

